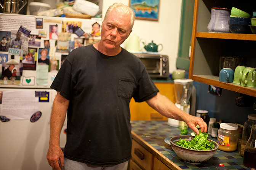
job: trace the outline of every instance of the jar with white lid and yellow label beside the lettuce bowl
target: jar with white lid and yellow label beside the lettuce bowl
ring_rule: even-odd
[[[218,130],[219,150],[232,152],[237,150],[238,126],[232,123],[221,123]]]

